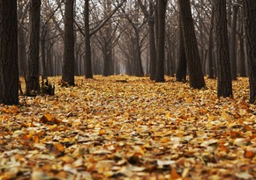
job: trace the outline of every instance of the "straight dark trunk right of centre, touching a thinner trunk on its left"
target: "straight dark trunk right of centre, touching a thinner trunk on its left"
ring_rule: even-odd
[[[157,58],[156,58],[156,73],[155,82],[164,82],[164,47],[165,47],[165,13],[166,0],[158,1],[158,44],[157,44]]]

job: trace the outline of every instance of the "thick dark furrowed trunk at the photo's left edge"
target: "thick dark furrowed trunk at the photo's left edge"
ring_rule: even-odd
[[[0,0],[0,22],[0,104],[19,104],[16,0]]]

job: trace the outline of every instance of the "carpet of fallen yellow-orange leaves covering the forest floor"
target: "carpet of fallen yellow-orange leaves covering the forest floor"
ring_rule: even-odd
[[[255,179],[256,107],[148,77],[76,77],[53,97],[0,105],[0,179]]]

